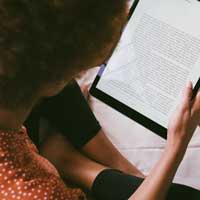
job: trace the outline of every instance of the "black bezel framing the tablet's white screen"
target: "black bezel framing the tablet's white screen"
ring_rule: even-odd
[[[135,0],[131,9],[130,9],[130,16],[133,14],[135,8],[138,5],[139,0]],[[116,100],[112,96],[104,93],[103,91],[96,88],[100,77],[103,73],[103,70],[105,68],[105,65],[102,65],[100,72],[97,74],[91,88],[90,88],[90,94],[97,99],[101,100],[102,102],[106,103],[107,105],[111,106],[115,110],[119,111],[120,113],[126,115],[130,119],[136,121],[137,123],[141,124],[142,126],[146,127],[147,129],[151,130],[158,136],[167,139],[167,129],[157,122],[149,119],[148,117],[142,115],[141,113],[137,112],[133,108],[128,107],[127,105],[123,104],[122,102]],[[196,95],[197,91],[200,88],[200,79],[198,80],[195,88],[194,88],[194,95]]]

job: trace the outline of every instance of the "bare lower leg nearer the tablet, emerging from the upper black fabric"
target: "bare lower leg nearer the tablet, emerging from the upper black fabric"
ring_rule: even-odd
[[[89,141],[83,148],[82,152],[96,162],[121,170],[125,173],[142,177],[144,174],[132,165],[109,141],[103,130]]]

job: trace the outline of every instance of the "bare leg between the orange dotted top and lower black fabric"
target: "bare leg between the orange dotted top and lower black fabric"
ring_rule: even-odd
[[[49,137],[41,149],[41,154],[51,161],[64,177],[88,190],[91,189],[96,176],[108,168],[82,155],[59,133]]]

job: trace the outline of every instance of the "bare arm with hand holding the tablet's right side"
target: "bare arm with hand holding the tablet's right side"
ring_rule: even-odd
[[[192,102],[192,84],[171,119],[166,148],[149,176],[129,200],[163,200],[200,119],[200,93]]]

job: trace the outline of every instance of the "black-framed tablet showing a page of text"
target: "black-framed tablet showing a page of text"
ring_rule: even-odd
[[[200,88],[200,2],[136,0],[121,39],[90,93],[167,138],[189,80]]]

